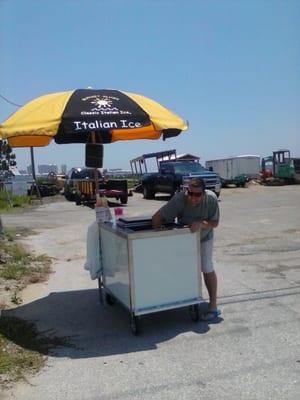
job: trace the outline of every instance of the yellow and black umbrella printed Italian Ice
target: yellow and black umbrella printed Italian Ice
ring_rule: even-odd
[[[0,124],[12,147],[163,139],[187,129],[182,118],[144,96],[109,89],[52,93],[25,104]]]

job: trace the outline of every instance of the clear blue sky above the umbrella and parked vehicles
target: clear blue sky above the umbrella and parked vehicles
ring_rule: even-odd
[[[201,161],[288,148],[300,157],[299,0],[0,0],[0,94],[115,88],[189,121],[166,141],[105,146],[104,167],[176,149]],[[17,107],[0,98],[0,121]],[[29,149],[15,151],[20,168]],[[36,164],[84,165],[83,145],[35,149]]]

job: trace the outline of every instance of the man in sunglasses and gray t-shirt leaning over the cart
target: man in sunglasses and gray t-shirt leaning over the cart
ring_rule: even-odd
[[[209,308],[202,316],[206,321],[221,314],[217,308],[217,275],[212,260],[213,229],[218,226],[219,217],[217,196],[210,190],[205,190],[205,183],[200,178],[192,178],[186,193],[176,194],[152,217],[154,228],[174,222],[177,218],[178,223],[188,225],[192,233],[201,229],[201,267],[209,295]]]

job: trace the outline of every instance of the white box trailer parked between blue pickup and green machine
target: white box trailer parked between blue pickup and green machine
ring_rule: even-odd
[[[220,175],[223,186],[235,184],[245,186],[249,179],[259,178],[260,156],[241,155],[206,161],[207,169]]]

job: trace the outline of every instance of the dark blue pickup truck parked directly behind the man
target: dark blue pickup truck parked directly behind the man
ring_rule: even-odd
[[[195,161],[161,161],[159,172],[146,173],[141,178],[145,199],[153,199],[155,193],[168,193],[171,196],[188,185],[191,178],[202,178],[206,189],[220,195],[221,183],[218,174],[208,171]]]

